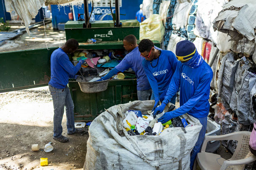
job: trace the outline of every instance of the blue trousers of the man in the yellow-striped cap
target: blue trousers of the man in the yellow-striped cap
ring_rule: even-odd
[[[200,123],[203,125],[203,127],[199,133],[198,140],[195,143],[195,146],[190,153],[190,170],[193,170],[195,157],[198,154],[198,152],[201,150],[201,146],[204,141],[204,136],[205,136],[206,127],[207,127],[207,116],[203,117],[203,118],[196,118],[196,119],[198,119],[200,121]]]

